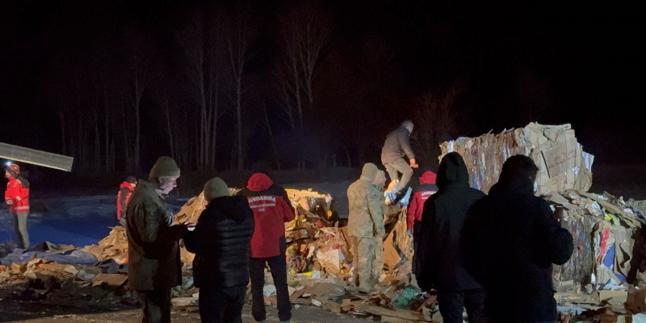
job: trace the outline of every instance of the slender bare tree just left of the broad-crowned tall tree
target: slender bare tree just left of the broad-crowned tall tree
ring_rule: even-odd
[[[233,74],[233,103],[236,109],[236,169],[244,168],[244,141],[242,129],[242,94],[245,67],[252,57],[251,47],[256,30],[251,24],[249,10],[238,10],[228,15],[225,38],[228,45],[229,63]]]

